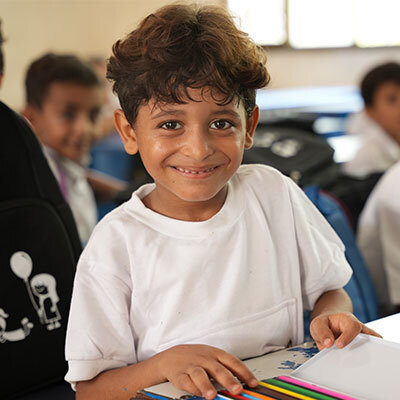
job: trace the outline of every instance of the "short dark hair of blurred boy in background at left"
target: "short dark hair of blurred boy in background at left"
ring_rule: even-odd
[[[94,70],[80,58],[71,54],[47,53],[33,61],[26,72],[26,102],[41,108],[50,85],[55,82],[101,86]]]

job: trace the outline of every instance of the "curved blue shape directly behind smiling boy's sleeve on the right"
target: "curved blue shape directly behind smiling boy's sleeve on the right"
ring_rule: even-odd
[[[344,287],[351,297],[354,314],[362,322],[378,318],[375,287],[358,249],[353,230],[341,204],[329,193],[310,185],[304,188],[308,198],[327,219],[346,247],[346,259],[353,269],[353,276]]]

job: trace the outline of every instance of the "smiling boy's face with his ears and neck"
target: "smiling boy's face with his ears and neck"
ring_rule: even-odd
[[[142,105],[134,127],[121,110],[115,122],[126,151],[139,151],[156,183],[144,203],[177,219],[196,219],[196,212],[185,217],[185,209],[202,210],[199,219],[207,219],[224,203],[226,184],[252,145],[258,108],[247,119],[241,102],[220,106],[208,89],[189,94],[196,101]]]

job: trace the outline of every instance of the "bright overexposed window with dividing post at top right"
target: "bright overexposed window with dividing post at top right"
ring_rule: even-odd
[[[227,0],[260,45],[399,46],[399,0]]]

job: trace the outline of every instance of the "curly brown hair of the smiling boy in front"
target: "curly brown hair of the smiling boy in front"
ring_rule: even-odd
[[[193,100],[188,88],[214,89],[221,105],[243,101],[251,116],[256,89],[269,82],[265,63],[264,50],[235,26],[224,8],[172,4],[147,16],[113,45],[107,78],[114,81],[131,125],[150,99]]]

